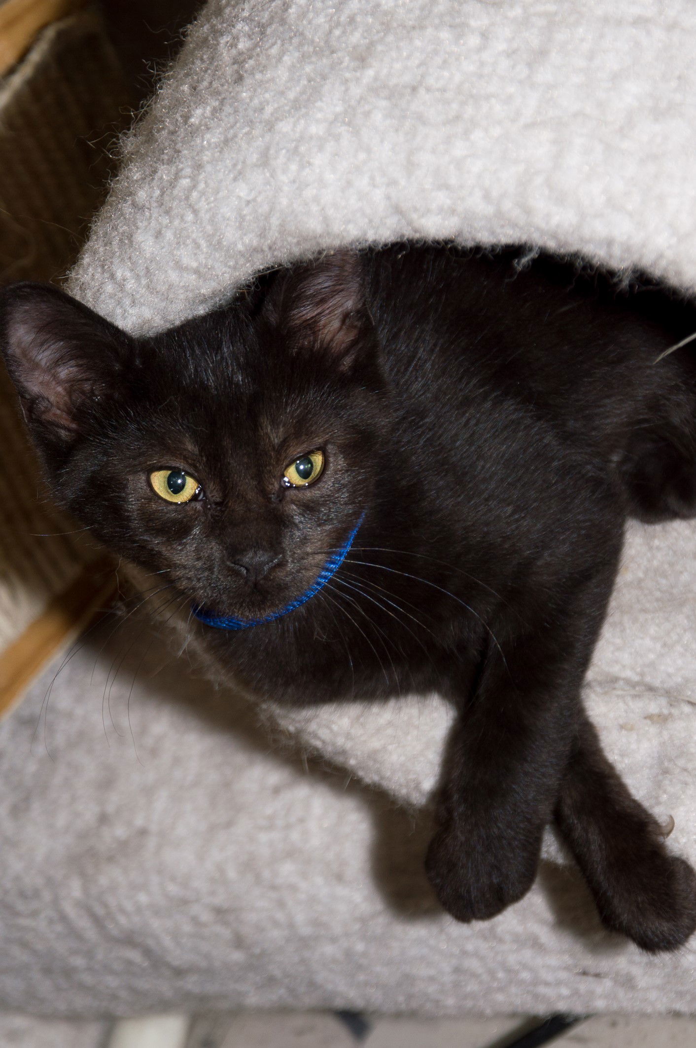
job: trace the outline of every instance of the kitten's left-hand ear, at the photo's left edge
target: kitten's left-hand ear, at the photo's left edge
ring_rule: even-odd
[[[85,409],[113,392],[127,336],[48,284],[0,293],[0,350],[40,443],[71,444]]]

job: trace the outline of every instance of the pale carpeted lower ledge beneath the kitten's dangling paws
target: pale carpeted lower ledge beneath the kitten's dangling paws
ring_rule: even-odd
[[[0,724],[0,1008],[696,1012],[693,946],[646,957],[603,931],[569,867],[543,863],[520,903],[457,923],[423,874],[427,817],[271,748],[147,624],[113,628],[43,714],[60,660]],[[611,752],[679,803],[659,772],[693,766],[691,711],[619,702]]]

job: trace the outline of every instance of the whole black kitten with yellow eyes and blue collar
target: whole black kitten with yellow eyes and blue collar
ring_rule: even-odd
[[[451,914],[521,898],[555,818],[609,929],[684,942],[694,872],[580,693],[627,516],[696,512],[696,367],[653,363],[696,329],[688,307],[400,245],[152,337],[32,284],[0,316],[55,498],[164,572],[219,664],[292,702],[455,703],[427,857]]]

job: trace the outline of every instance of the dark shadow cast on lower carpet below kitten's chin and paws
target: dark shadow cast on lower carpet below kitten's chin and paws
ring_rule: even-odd
[[[153,625],[144,609],[128,617],[129,605],[125,607],[117,613],[107,613],[104,621],[84,638],[94,651],[95,660],[111,667],[105,689],[105,730],[110,730],[112,715],[118,734],[129,730],[122,722],[124,711],[111,708],[110,694],[116,678],[127,687],[136,678],[145,679],[153,702],[177,703],[193,709],[217,730],[234,734],[260,755],[271,750],[276,760],[300,773],[319,777],[331,790],[341,794],[350,790],[359,795],[373,822],[372,872],[385,904],[396,915],[412,920],[434,919],[443,913],[424,871],[433,832],[430,810],[406,810],[382,790],[355,779],[346,781],[350,776],[344,768],[308,755],[293,740],[282,742],[277,732],[272,727],[269,732],[262,708],[233,687],[217,689],[185,653],[174,654],[166,630]],[[604,930],[577,868],[542,861],[538,879],[558,925],[583,941],[591,953],[606,955],[628,947],[623,936]]]

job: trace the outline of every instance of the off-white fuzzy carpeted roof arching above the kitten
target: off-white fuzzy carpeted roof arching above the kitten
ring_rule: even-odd
[[[691,0],[210,0],[72,279],[132,330],[404,237],[696,282]]]

